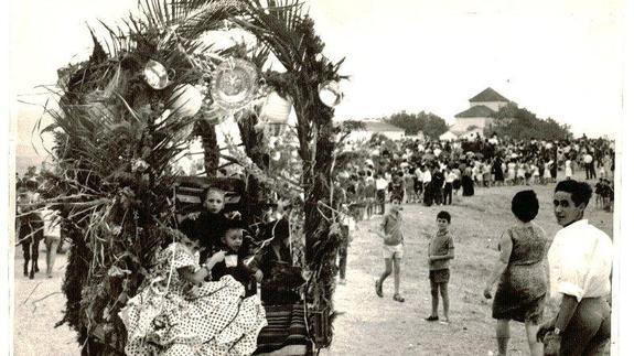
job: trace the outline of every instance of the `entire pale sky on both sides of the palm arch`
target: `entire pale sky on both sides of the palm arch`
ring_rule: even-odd
[[[308,1],[326,55],[345,57],[340,118],[431,111],[453,122],[486,87],[576,134],[611,134],[622,117],[624,0]],[[11,88],[44,99],[37,85],[87,58],[97,25],[135,0],[12,1]],[[35,107],[18,104],[19,141]]]

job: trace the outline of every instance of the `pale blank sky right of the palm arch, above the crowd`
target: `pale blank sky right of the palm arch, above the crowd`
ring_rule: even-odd
[[[345,3],[345,6],[343,4]],[[486,87],[574,133],[621,117],[622,1],[319,1],[332,57],[353,80],[340,116],[432,111],[445,120]]]

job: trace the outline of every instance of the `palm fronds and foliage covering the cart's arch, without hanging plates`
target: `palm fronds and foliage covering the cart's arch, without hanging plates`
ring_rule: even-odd
[[[221,48],[205,37],[233,29],[252,34],[256,43]],[[89,31],[93,54],[58,71],[60,110],[50,112],[54,123],[44,129],[55,138],[56,168],[47,176],[55,192],[52,202],[72,240],[61,323],[77,332],[84,352],[117,355],[123,347],[126,331],[116,315],[148,282],[161,245],[174,237],[172,188],[178,172],[173,162],[183,154],[194,128],[206,142],[206,158],[219,158],[214,125],[205,121],[213,105],[206,86],[216,66],[230,57],[254,63],[269,89],[294,103],[302,160],[297,180],[288,172],[269,175],[265,137],[254,128],[255,109],[234,116],[239,118],[246,153],[232,147],[229,159],[243,165],[249,186],[256,187],[249,192],[254,196],[258,188],[288,194],[292,187],[294,202],[302,204],[295,214],[303,222],[295,228],[303,231],[302,261],[311,273],[308,303],[319,311],[315,315],[326,316],[331,328],[327,316],[334,314],[334,261],[341,238],[332,209],[323,207],[332,205],[336,129],[333,109],[320,101],[319,86],[342,78],[342,62],[331,63],[321,54],[323,43],[303,4],[298,0],[266,4],[140,0],[137,14]],[[146,80],[143,68],[150,60],[169,69],[165,87],[153,88]],[[271,61],[281,63],[286,72],[265,69]],[[174,95],[181,86],[201,87],[206,101],[198,114],[179,114],[189,103],[178,104],[183,103]],[[217,162],[207,163],[213,174]],[[316,345],[327,346],[332,333],[315,335],[316,326],[311,325]]]

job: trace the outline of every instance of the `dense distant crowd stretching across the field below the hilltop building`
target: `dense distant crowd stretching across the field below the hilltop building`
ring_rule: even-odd
[[[351,143],[344,152],[358,150]],[[614,147],[604,139],[375,140],[366,150],[367,157],[347,162],[335,179],[337,195],[357,219],[385,214],[386,202],[451,205],[460,192],[472,196],[475,188],[550,184],[561,174],[571,179],[581,168],[587,180],[599,179],[595,193],[602,207],[610,208],[613,201]]]

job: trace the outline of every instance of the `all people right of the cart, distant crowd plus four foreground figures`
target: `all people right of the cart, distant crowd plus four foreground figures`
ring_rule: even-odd
[[[555,217],[561,230],[550,247],[544,229],[533,222],[539,211],[536,193],[520,191],[511,202],[516,224],[502,234],[499,258],[483,291],[486,299],[493,298],[498,355],[507,355],[511,321],[525,325],[533,356],[602,353],[610,339],[611,306],[606,298],[611,292],[612,242],[606,234],[588,224],[583,213],[592,195],[589,183],[594,180],[595,206],[611,208],[614,198],[611,142],[585,138],[504,142],[494,138],[453,143],[406,141],[389,149],[384,143],[375,143],[370,158],[363,164],[347,163],[335,180],[336,195],[343,196],[342,215],[346,222],[354,217],[346,225],[354,226],[373,214],[382,215],[374,231],[383,239],[380,255],[385,260],[385,268],[375,280],[377,296],[384,296],[384,282],[393,277],[393,300],[405,302],[400,293],[401,262],[406,255],[401,204],[450,205],[452,195],[460,190],[463,196],[470,196],[474,187],[557,183]],[[587,182],[572,179],[580,169],[585,171]],[[386,204],[390,204],[388,209]],[[454,259],[450,224],[449,212],[438,213],[438,230],[429,239],[428,322],[450,322],[448,283]],[[343,271],[347,245],[345,241],[343,253],[340,251]],[[340,281],[345,283],[345,272]],[[545,317],[548,291],[558,304],[552,319]]]

